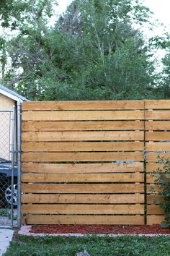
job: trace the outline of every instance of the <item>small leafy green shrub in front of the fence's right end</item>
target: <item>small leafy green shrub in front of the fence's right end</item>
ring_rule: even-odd
[[[160,187],[151,188],[152,192],[158,192],[160,195],[160,208],[164,210],[165,221],[162,221],[162,228],[170,227],[170,160],[158,157],[158,163],[162,164],[161,168],[153,171],[151,176],[155,177],[154,184]],[[156,202],[156,201],[155,201]]]

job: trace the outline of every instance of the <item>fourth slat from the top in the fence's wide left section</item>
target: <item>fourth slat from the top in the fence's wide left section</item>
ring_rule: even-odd
[[[22,142],[143,140],[143,132],[24,132]],[[159,139],[158,139],[159,140]]]

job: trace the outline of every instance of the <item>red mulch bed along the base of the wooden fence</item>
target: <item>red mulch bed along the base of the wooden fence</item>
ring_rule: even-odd
[[[170,229],[161,229],[160,225],[45,225],[32,226],[36,234],[170,234]]]

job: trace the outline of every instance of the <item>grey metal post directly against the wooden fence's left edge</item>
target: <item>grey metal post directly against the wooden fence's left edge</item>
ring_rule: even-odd
[[[17,226],[21,226],[21,102],[17,102]]]

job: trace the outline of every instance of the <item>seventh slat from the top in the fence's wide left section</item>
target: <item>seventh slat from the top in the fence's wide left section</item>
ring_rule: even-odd
[[[39,173],[115,173],[143,171],[143,163],[22,163],[22,171]]]

